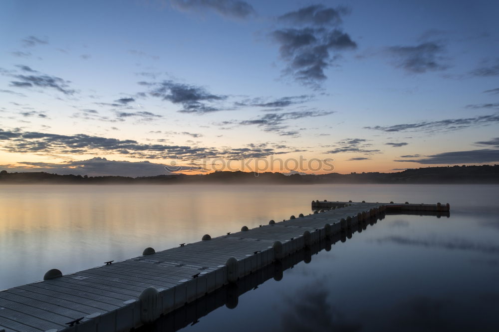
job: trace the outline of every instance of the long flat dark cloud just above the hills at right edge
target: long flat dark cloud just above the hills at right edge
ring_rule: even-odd
[[[419,164],[476,164],[499,161],[499,150],[483,149],[470,151],[444,152],[421,159],[400,159],[399,162]]]

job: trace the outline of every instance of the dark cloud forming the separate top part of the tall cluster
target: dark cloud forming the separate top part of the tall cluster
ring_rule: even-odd
[[[346,7],[326,8],[321,4],[313,4],[308,7],[290,11],[277,17],[277,20],[290,24],[313,24],[313,25],[337,25],[341,23],[341,16],[347,14]]]

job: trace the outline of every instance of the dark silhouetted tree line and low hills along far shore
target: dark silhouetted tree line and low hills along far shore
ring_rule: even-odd
[[[59,175],[45,172],[0,172],[0,184],[498,184],[499,165],[425,167],[395,173],[329,173],[320,175],[253,172],[214,172],[204,175],[157,175],[147,177]]]

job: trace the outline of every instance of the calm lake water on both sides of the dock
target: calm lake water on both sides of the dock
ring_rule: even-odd
[[[182,331],[499,331],[498,194],[497,185],[2,185],[0,289],[310,213],[312,199],[441,202],[450,218],[386,216]]]

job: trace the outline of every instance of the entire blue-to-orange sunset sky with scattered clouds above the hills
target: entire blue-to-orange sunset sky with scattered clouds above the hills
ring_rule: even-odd
[[[0,168],[495,164],[498,12],[494,0],[4,0]]]

